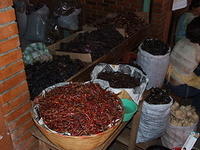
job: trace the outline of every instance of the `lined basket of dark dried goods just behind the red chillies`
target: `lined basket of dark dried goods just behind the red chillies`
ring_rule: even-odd
[[[100,63],[94,67],[91,80],[102,87],[139,103],[148,83],[147,77],[139,69],[130,65],[111,65]]]

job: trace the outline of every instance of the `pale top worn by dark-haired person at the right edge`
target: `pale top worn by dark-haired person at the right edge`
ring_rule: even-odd
[[[200,77],[193,71],[200,63],[200,45],[189,39],[180,40],[170,55],[168,79],[200,89]]]

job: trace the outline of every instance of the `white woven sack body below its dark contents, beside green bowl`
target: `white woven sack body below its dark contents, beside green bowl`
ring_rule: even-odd
[[[151,141],[163,135],[172,104],[173,100],[169,104],[160,105],[148,104],[144,101],[136,143]]]

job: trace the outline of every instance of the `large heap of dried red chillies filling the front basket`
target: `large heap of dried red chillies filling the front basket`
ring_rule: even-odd
[[[50,129],[73,136],[103,132],[118,124],[123,115],[117,95],[94,83],[56,87],[35,101]]]

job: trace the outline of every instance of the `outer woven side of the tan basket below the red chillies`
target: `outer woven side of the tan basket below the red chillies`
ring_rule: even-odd
[[[34,118],[34,117],[33,117]],[[53,133],[33,119],[36,126],[40,131],[56,146],[63,148],[64,150],[94,150],[98,146],[102,145],[111,134],[118,128],[117,126],[91,136],[66,136],[58,133]]]

